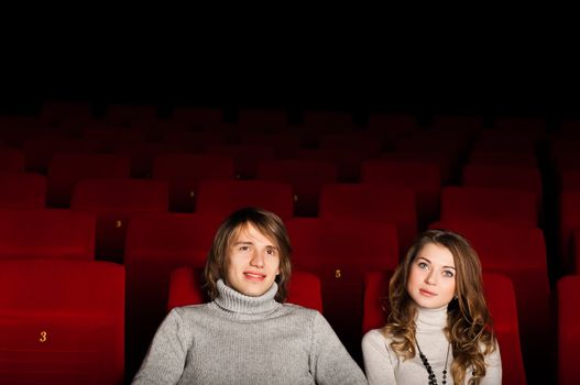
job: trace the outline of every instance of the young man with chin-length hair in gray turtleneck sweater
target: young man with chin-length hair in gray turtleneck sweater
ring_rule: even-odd
[[[211,301],[169,312],[133,384],[366,384],[318,311],[284,304],[291,252],[274,213],[226,219],[206,262]]]

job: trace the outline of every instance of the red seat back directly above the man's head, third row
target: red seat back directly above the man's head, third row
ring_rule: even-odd
[[[201,180],[196,212],[226,218],[242,207],[261,207],[282,219],[292,218],[294,198],[288,183],[269,180]]]

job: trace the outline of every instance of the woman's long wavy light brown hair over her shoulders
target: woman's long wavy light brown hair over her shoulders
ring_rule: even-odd
[[[484,355],[496,349],[496,342],[490,311],[483,297],[480,260],[461,235],[445,230],[427,230],[419,234],[391,278],[390,315],[383,332],[393,339],[391,348],[397,355],[404,360],[415,356],[417,310],[408,295],[407,282],[417,254],[429,243],[448,249],[453,255],[456,267],[456,297],[447,307],[445,329],[453,352],[453,383],[463,384],[467,371],[470,370],[470,384],[479,384],[485,376]]]

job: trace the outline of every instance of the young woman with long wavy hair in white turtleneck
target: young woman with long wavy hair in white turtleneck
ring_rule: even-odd
[[[370,384],[501,384],[500,348],[475,251],[460,235],[420,234],[391,278],[389,321],[362,340]]]

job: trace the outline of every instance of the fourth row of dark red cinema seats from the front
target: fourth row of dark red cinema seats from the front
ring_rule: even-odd
[[[45,144],[46,145],[46,144]],[[0,148],[0,161],[18,153]],[[0,162],[0,170],[22,173],[23,165]],[[414,188],[424,196],[427,212],[436,210],[434,200],[444,185],[441,168],[433,162],[417,160],[374,158],[361,161],[360,183],[381,183]],[[166,180],[172,211],[191,212],[195,209],[197,184],[204,179],[234,179],[233,160],[207,154],[164,154],[152,158],[153,180]],[[29,179],[41,179],[28,173]],[[83,178],[130,178],[130,158],[121,154],[54,154],[44,179],[44,199],[50,207],[68,207],[75,184]],[[253,179],[286,182],[293,186],[296,213],[313,216],[317,198],[325,184],[336,184],[338,166],[321,160],[263,160],[256,163]],[[37,182],[40,184],[40,182]],[[462,168],[462,186],[518,188],[532,191],[541,201],[539,170],[534,167],[467,164]],[[41,186],[39,186],[41,188]],[[39,194],[44,190],[39,190]],[[430,210],[430,211],[429,211]]]

